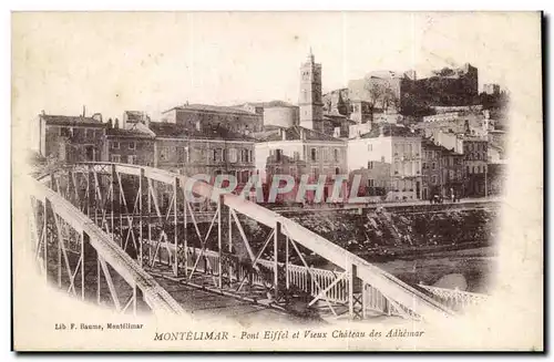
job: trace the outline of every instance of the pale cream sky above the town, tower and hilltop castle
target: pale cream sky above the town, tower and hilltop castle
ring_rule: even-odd
[[[414,69],[422,77],[465,62],[479,68],[480,90],[510,87],[514,56],[516,66],[537,56],[536,44],[521,48],[537,34],[530,20],[536,13],[16,13],[12,112],[76,115],[85,105],[104,120],[125,110],[157,118],[186,102],[297,103],[310,48],[324,93],[370,71]]]

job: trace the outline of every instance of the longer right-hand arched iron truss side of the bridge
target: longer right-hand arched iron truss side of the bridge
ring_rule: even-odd
[[[45,177],[47,180],[48,178]],[[201,250],[192,258],[194,259],[193,266],[189,265],[188,258],[185,257],[187,259],[185,261],[187,268],[185,269],[192,268],[188,273],[194,275],[195,269],[202,267],[202,257],[209,254],[206,251],[206,246],[209,242],[212,245],[217,242],[216,249],[219,251],[216,252],[218,257],[207,256],[205,260],[207,260],[206,263],[209,263],[212,270],[217,271],[218,278],[214,278],[214,285],[217,288],[223,288],[225,270],[219,272],[222,265],[224,265],[222,255],[227,247],[230,251],[235,247],[233,242],[237,242],[236,238],[233,239],[235,241],[232,241],[230,234],[234,229],[238,231],[238,242],[243,242],[242,248],[245,250],[250,266],[254,269],[265,267],[273,270],[273,292],[276,299],[279,296],[279,290],[288,287],[279,281],[278,270],[283,267],[280,261],[299,258],[305,269],[297,269],[286,261],[288,268],[286,273],[287,283],[293,280],[294,285],[299,286],[300,289],[309,290],[314,297],[310,303],[325,301],[335,316],[338,316],[338,313],[334,310],[331,302],[334,300],[343,300],[345,291],[348,293],[348,313],[351,317],[359,314],[360,308],[365,313],[367,308],[363,303],[368,300],[376,300],[376,309],[392,310],[410,318],[422,316],[425,316],[425,318],[443,318],[452,314],[452,310],[435,299],[294,220],[205,182],[163,169],[112,163],[69,165],[68,168],[61,169],[58,175],[51,175],[50,178],[53,188],[73,200],[82,210],[86,210],[86,214],[103,230],[111,231],[112,235],[115,231],[121,232],[114,239],[120,241],[120,247],[123,250],[129,250],[133,246],[132,252],[137,256],[140,266],[144,266],[146,255],[143,246],[147,242],[150,254],[147,265],[153,266],[157,262],[155,261],[156,256],[165,249],[167,254],[166,261],[177,275],[178,267],[183,262],[181,260],[183,252],[179,250],[187,250],[192,244],[197,246],[199,241],[204,251]],[[130,189],[124,188],[124,178],[134,178],[131,193],[129,193]],[[64,179],[68,182],[64,182]],[[161,195],[162,193],[163,195]],[[208,223],[209,229],[205,234],[201,232],[198,227],[195,209],[192,206],[195,201],[191,195],[204,197],[216,206],[214,217]],[[117,218],[114,214],[115,209],[123,209],[127,216],[122,217],[120,215]],[[150,216],[152,213],[155,213],[156,220],[153,220]],[[239,216],[243,221],[240,221]],[[183,217],[182,220],[181,217]],[[252,240],[248,240],[249,235],[242,225],[245,219],[254,220],[259,226],[271,230],[270,236],[259,250],[255,250],[250,244]],[[196,234],[194,236],[196,240],[193,241],[191,241],[191,236],[187,237],[187,232],[183,234],[183,238],[178,237],[182,228],[179,225],[188,225],[189,220],[192,220],[195,228],[193,234]],[[152,223],[161,225],[162,231],[154,232]],[[228,226],[229,238],[223,236],[225,225]],[[147,230],[145,227],[147,227]],[[122,231],[123,229],[125,231]],[[237,234],[234,236],[237,236]],[[151,248],[152,245],[154,245],[153,248]],[[270,247],[266,250],[266,247],[271,245],[273,250],[270,250]],[[170,246],[173,248],[170,248]],[[284,246],[286,246],[286,252],[283,250]],[[274,260],[258,260],[264,250],[266,254],[273,251]],[[334,275],[331,278],[328,270],[321,271],[308,267],[302,250],[308,250],[310,254],[326,259],[343,270],[343,272],[339,276]],[[258,254],[258,257],[256,257],[256,254]],[[279,260],[279,262],[276,260]],[[259,263],[259,266],[256,263]],[[244,275],[245,271],[239,272]],[[266,281],[260,279],[257,282]],[[361,286],[363,286],[362,290],[366,290],[366,286],[371,286],[387,300],[388,307],[379,307],[379,303],[382,304],[382,300],[377,292],[371,292],[371,296],[369,292],[356,292],[355,285],[360,281]],[[348,285],[348,288],[343,288],[343,285]],[[317,294],[314,296],[315,293]]]

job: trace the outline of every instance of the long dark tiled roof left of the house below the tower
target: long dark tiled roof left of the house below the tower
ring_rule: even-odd
[[[204,126],[201,131],[188,128],[175,123],[151,122],[150,128],[156,137],[186,138],[186,139],[222,139],[255,142],[254,138],[229,131],[222,126]]]

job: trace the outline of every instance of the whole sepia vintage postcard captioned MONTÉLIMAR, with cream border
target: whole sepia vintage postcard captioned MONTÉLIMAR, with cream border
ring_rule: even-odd
[[[17,351],[542,351],[540,12],[13,12]]]

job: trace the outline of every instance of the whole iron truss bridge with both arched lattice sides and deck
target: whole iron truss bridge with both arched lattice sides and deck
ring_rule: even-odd
[[[79,163],[30,185],[32,250],[45,280],[122,313],[185,313],[195,288],[324,320],[454,313],[432,289],[184,175]]]

